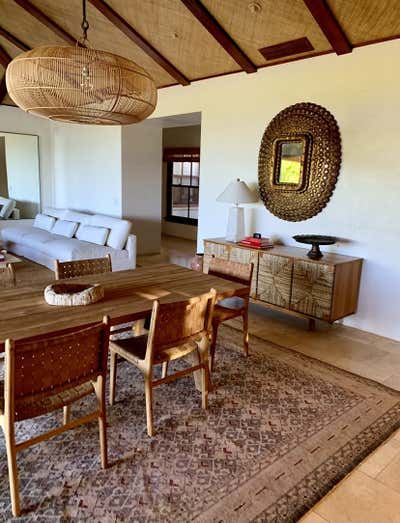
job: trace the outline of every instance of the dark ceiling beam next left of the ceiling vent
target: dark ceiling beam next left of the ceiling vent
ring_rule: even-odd
[[[250,58],[199,0],[181,0],[181,2],[246,73],[257,71]]]

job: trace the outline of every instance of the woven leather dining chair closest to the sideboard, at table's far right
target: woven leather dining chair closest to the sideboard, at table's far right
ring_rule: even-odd
[[[210,345],[210,370],[214,370],[215,348],[217,344],[218,327],[221,323],[238,318],[243,320],[243,346],[246,356],[249,354],[249,301],[250,286],[253,276],[253,263],[240,263],[212,257],[208,274],[218,276],[235,283],[241,283],[248,288],[246,293],[235,293],[232,298],[217,302],[212,319],[212,337]]]

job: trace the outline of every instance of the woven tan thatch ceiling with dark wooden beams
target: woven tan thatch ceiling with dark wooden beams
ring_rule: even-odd
[[[0,0],[0,101],[11,103],[1,81],[8,61],[42,44],[73,45],[81,9],[81,0]],[[93,47],[134,60],[166,87],[399,38],[400,1],[88,0],[88,20]]]

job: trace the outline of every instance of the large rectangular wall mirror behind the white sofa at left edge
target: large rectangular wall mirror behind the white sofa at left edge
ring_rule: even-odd
[[[12,209],[9,208],[10,200],[13,200]],[[0,131],[0,217],[34,218],[38,212],[39,138]]]

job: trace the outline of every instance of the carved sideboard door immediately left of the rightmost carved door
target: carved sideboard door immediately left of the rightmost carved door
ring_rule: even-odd
[[[293,259],[260,252],[257,299],[289,308]]]

